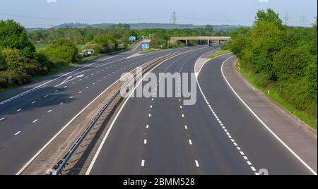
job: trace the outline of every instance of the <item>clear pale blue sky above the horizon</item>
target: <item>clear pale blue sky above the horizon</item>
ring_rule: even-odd
[[[0,0],[0,20],[26,28],[61,23],[177,23],[252,25],[259,9],[272,8],[288,25],[314,23],[317,0]]]

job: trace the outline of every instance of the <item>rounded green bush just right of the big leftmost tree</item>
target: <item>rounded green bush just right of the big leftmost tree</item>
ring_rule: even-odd
[[[68,39],[57,39],[52,46],[45,50],[45,55],[49,57],[49,61],[59,63],[73,63],[76,59],[78,49],[73,42]]]

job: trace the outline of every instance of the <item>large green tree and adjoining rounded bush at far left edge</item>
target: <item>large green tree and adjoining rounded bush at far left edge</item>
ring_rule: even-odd
[[[68,39],[57,39],[45,52],[35,51],[23,26],[0,20],[0,90],[29,83],[37,75],[75,61],[77,49]]]

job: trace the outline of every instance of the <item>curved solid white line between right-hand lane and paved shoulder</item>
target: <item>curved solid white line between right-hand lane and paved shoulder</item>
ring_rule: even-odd
[[[261,118],[259,118],[259,116],[257,116],[257,114],[254,113],[254,111],[252,111],[252,109],[249,108],[249,106],[242,100],[242,98],[237,94],[237,92],[235,92],[235,90],[232,88],[232,86],[230,85],[230,83],[228,82],[228,80],[225,78],[225,75],[223,73],[223,65],[226,61],[228,61],[229,59],[231,59],[234,56],[230,56],[228,59],[226,59],[221,66],[221,73],[223,75],[223,78],[225,80],[226,83],[228,83],[228,86],[230,87],[230,89],[232,90],[232,92],[234,92],[234,94],[237,96],[238,99],[240,99],[240,101],[247,107],[247,109],[249,109],[249,111],[257,118],[257,120],[259,122],[261,122],[261,124],[267,129],[269,130],[269,133],[271,133],[279,142],[281,142],[281,144],[290,152],[292,153],[304,166],[307,167],[307,169],[309,169],[314,175],[317,175],[317,173],[304,161],[302,160],[298,154],[296,154],[293,150],[290,149],[290,147],[288,147],[288,145],[285,144],[285,142],[283,142],[283,140],[281,140],[281,138],[278,137],[278,135],[276,135],[275,133],[273,133],[273,131],[266,126],[266,124],[261,121]]]

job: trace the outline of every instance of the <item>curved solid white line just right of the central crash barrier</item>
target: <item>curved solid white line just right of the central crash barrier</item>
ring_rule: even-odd
[[[198,49],[194,49],[192,51],[195,51],[195,50],[198,50]],[[189,51],[191,52],[191,51]],[[182,53],[184,54],[184,53]],[[178,55],[175,55],[175,56],[179,56],[179,55],[182,55],[182,54],[178,54]],[[169,59],[165,60],[165,61],[168,61],[172,58],[174,58],[175,56],[172,56],[170,57]],[[162,63],[164,63],[165,61],[159,63],[157,66],[155,66],[154,68],[152,68],[150,71],[148,71],[148,73],[146,73],[146,75],[143,75],[143,78],[145,78],[149,73],[151,73],[151,71],[153,71],[155,68],[157,68],[158,66],[160,66]],[[110,127],[108,128],[104,138],[102,139],[102,142],[100,143],[100,146],[98,147],[98,150],[96,151],[94,157],[93,157],[93,160],[90,162],[90,166],[88,166],[88,169],[86,171],[86,175],[89,175],[90,174],[90,171],[93,169],[93,166],[95,164],[95,161],[96,159],[98,158],[98,155],[100,154],[100,151],[102,150],[102,146],[104,145],[108,135],[110,134],[110,130],[112,130],[112,126],[114,126],[114,123],[116,122],[119,114],[122,112],[122,109],[124,109],[124,106],[126,104],[126,102],[128,102],[129,98],[131,97],[131,95],[133,94],[133,92],[136,90],[136,88],[139,86],[139,84],[141,83],[141,81],[143,81],[143,78],[141,78],[141,80],[139,81],[139,83],[137,83],[137,85],[134,87],[134,90],[131,90],[129,96],[126,98],[124,104],[122,104],[122,106],[120,107],[119,111],[117,112],[116,116],[114,117],[114,119],[112,120],[112,123],[110,124]]]

